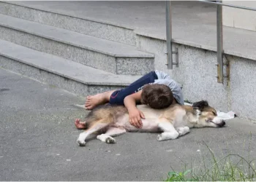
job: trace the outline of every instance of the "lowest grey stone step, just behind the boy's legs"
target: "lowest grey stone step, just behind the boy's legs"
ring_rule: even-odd
[[[77,95],[116,90],[140,76],[116,75],[0,40],[0,66]]]

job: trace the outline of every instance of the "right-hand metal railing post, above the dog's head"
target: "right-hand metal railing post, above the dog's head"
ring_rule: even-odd
[[[222,1],[217,1],[222,3]],[[217,4],[217,82],[223,83],[223,27],[222,5]]]

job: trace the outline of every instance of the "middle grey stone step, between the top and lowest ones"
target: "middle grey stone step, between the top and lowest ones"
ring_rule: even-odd
[[[0,39],[113,74],[143,75],[154,70],[154,55],[115,41],[0,15]]]

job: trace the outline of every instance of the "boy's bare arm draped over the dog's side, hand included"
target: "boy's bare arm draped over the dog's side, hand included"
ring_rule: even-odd
[[[144,114],[136,107],[136,103],[140,102],[141,92],[142,90],[124,98],[124,106],[129,113],[129,122],[138,128],[142,127],[141,118],[145,118]]]

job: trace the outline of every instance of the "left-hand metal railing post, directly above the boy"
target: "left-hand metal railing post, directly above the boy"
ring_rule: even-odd
[[[172,15],[170,12],[170,0],[166,0],[166,44],[167,44],[167,68],[173,69],[172,50]]]

